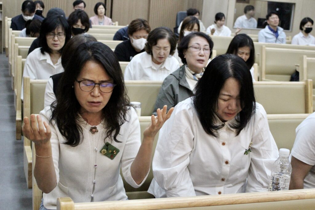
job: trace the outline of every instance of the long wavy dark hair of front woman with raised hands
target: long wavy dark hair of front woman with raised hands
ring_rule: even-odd
[[[69,61],[71,65],[66,65],[60,79],[56,103],[51,105],[50,122],[56,121],[60,133],[67,139],[66,145],[77,146],[81,143],[80,133],[83,134],[83,131],[76,121],[81,105],[72,87],[87,61],[101,64],[116,84],[102,113],[105,117],[104,127],[107,129],[105,138],[120,142],[117,140],[117,135],[120,127],[127,120],[126,113],[130,109],[129,99],[125,92],[123,73],[115,54],[111,48],[100,42],[82,43],[73,52]]]

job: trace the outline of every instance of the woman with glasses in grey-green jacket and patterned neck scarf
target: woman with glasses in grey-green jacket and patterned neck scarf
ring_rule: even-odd
[[[183,65],[164,79],[154,110],[163,108],[163,105],[170,109],[194,95],[195,85],[203,75],[212,48],[211,38],[203,32],[191,33],[182,38],[177,49]],[[153,114],[157,113],[154,111]]]

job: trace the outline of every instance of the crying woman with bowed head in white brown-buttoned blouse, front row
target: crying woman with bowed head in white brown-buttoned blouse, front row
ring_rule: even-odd
[[[278,148],[252,77],[237,55],[215,57],[159,132],[156,198],[267,191]]]

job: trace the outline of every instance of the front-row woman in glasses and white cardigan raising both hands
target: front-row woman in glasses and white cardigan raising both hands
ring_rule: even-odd
[[[74,202],[128,199],[124,179],[145,181],[153,140],[172,110],[157,110],[140,141],[140,123],[129,106],[117,57],[100,42],[80,44],[65,66],[57,100],[24,118],[24,136],[35,144],[34,177],[43,191],[40,209],[56,209],[58,197]]]

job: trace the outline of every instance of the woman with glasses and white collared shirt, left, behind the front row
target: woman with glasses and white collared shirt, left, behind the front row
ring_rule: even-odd
[[[71,29],[63,15],[45,18],[40,28],[40,48],[34,49],[26,58],[23,77],[49,79],[51,75],[64,71],[61,65],[63,47],[71,38]],[[21,90],[23,99],[23,81]]]

